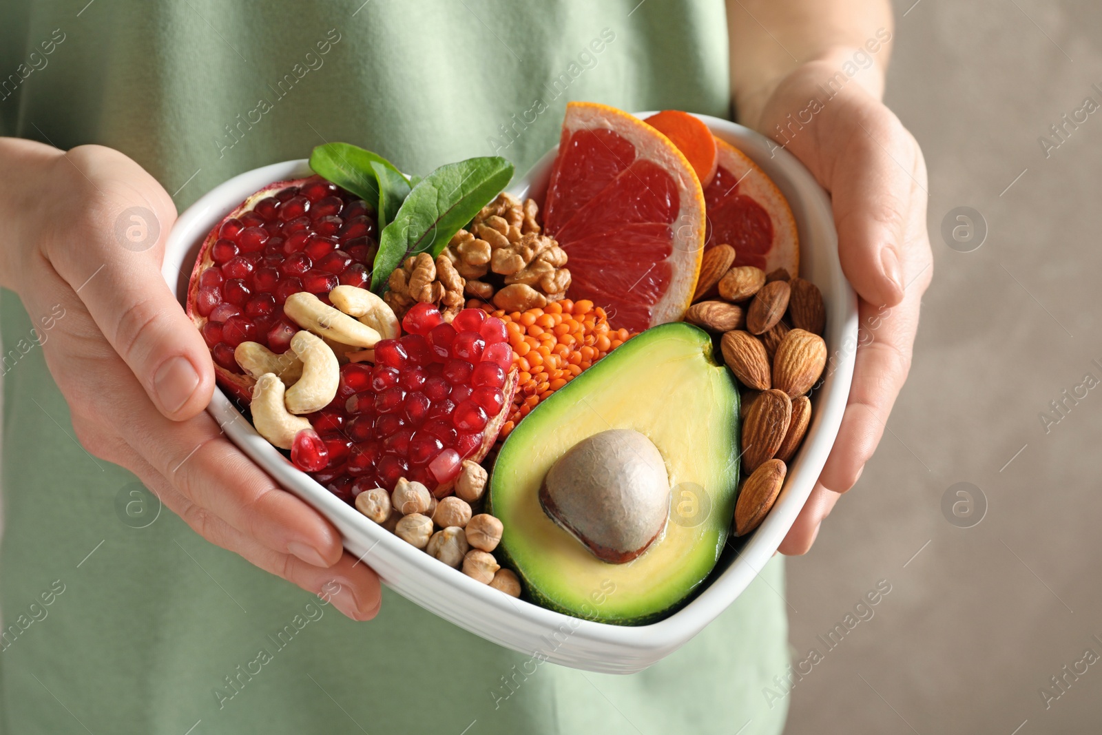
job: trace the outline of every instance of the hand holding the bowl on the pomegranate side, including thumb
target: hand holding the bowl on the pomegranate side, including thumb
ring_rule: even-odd
[[[126,155],[0,139],[0,279],[32,322],[93,454],[134,473],[208,541],[350,618],[375,616],[379,581],[337,530],[280,489],[204,411],[214,368],[161,277],[172,198]],[[335,584],[334,584],[335,583]]]

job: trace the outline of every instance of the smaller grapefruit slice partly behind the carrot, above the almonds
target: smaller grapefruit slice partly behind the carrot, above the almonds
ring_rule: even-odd
[[[720,164],[704,190],[705,249],[725,242],[735,249],[735,266],[756,266],[766,273],[785,268],[795,278],[800,240],[788,201],[745,153],[725,140],[715,142]]]

